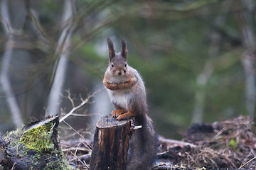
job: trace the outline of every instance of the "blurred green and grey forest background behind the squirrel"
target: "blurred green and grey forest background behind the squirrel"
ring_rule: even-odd
[[[78,106],[97,91],[63,123],[90,137],[112,110],[107,37],[116,51],[127,40],[160,135],[181,139],[191,123],[255,111],[254,0],[0,2],[1,135],[68,113],[68,92]]]

